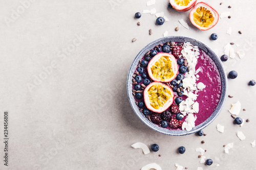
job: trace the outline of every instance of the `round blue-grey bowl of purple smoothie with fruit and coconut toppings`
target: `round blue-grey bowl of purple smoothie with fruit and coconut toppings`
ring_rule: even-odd
[[[219,57],[188,37],[164,37],[146,45],[127,78],[136,115],[167,135],[192,134],[208,126],[220,113],[226,92]]]

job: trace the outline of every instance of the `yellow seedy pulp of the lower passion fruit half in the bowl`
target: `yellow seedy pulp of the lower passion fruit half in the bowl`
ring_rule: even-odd
[[[155,109],[163,107],[170,98],[172,98],[170,91],[161,85],[156,84],[148,89],[150,105]]]

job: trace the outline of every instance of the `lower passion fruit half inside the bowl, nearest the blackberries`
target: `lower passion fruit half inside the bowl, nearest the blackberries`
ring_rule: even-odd
[[[174,92],[163,83],[153,82],[144,90],[144,102],[151,111],[162,113],[173,104]]]

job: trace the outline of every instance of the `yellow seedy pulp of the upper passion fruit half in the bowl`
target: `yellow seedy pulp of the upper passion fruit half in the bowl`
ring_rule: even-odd
[[[151,67],[152,75],[156,79],[166,80],[174,76],[172,61],[167,56],[162,56]]]

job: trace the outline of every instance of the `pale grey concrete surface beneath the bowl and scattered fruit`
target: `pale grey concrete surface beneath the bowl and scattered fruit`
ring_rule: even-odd
[[[256,79],[255,1],[207,1],[219,13],[231,13],[230,19],[220,19],[209,31],[193,27],[189,12],[167,9],[166,0],[150,7],[146,2],[0,2],[0,169],[140,169],[152,162],[162,169],[176,169],[175,163],[188,169],[256,169],[255,148],[250,144],[256,139],[256,86],[247,85]],[[136,12],[152,8],[164,12],[169,21],[156,26],[156,16],[150,14],[134,19]],[[181,18],[189,30],[180,25]],[[180,30],[175,32],[177,26]],[[231,35],[226,34],[228,27]],[[240,45],[233,45],[235,52],[246,54],[224,63],[227,72],[238,71],[238,78],[228,80],[233,98],[204,129],[206,136],[155,132],[140,122],[127,99],[126,77],[132,61],[165,31],[198,39],[218,50],[219,56],[229,42]],[[211,33],[218,33],[218,40],[210,40]],[[137,41],[132,43],[133,38]],[[240,117],[250,119],[243,127],[233,125],[228,112],[237,101],[246,109]],[[3,161],[4,111],[9,112],[8,167]],[[224,133],[216,130],[217,124],[225,126]],[[245,134],[244,141],[236,136],[238,131]],[[135,142],[149,147],[158,143],[160,150],[143,155],[131,148]],[[234,148],[225,154],[223,145],[230,142]],[[186,148],[183,155],[177,153],[181,145]],[[205,156],[214,164],[200,163],[195,151],[199,147],[207,150]]]

